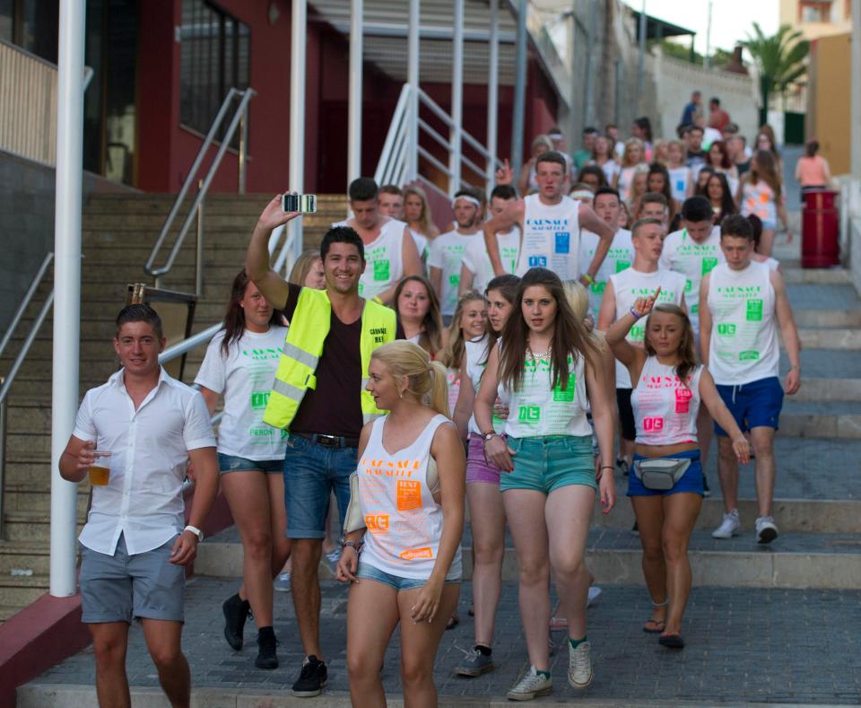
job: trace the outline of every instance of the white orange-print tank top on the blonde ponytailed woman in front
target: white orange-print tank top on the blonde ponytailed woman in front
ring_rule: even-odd
[[[402,450],[383,446],[387,415],[374,421],[359,460],[359,497],[367,532],[362,563],[401,578],[430,578],[442,538],[442,507],[428,489],[433,435],[451,421],[435,415],[422,433]],[[448,579],[461,573],[460,546]]]

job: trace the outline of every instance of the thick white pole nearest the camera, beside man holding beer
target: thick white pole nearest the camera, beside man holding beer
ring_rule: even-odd
[[[74,595],[77,485],[60,477],[60,456],[78,408],[81,335],[84,0],[61,0],[57,59],[57,200],[54,226],[54,362],[51,380],[51,580]],[[107,343],[105,344],[107,346]]]

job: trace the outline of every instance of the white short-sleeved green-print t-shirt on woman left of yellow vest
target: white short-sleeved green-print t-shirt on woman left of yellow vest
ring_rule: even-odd
[[[224,394],[224,417],[218,428],[218,451],[223,455],[284,459],[286,431],[265,424],[263,414],[286,336],[286,327],[270,327],[264,334],[246,329],[224,357],[222,330],[206,348],[195,383]]]

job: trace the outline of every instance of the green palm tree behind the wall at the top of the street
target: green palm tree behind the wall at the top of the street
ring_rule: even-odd
[[[810,42],[801,37],[801,32],[793,31],[788,24],[780,25],[776,34],[766,37],[760,25],[753,22],[753,36],[748,35],[747,40],[742,42],[760,72],[760,125],[767,121],[770,94],[786,91],[789,84],[807,70],[804,59],[810,49]]]

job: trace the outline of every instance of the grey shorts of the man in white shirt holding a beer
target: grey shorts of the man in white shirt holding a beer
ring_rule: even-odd
[[[173,537],[163,546],[128,555],[119,537],[114,555],[81,546],[82,621],[128,622],[143,617],[182,622],[186,602],[186,569],[170,563]]]

